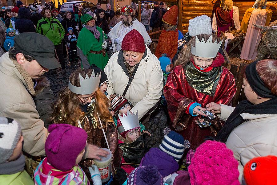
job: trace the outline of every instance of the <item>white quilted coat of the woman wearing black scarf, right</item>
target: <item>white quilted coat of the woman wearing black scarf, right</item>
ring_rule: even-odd
[[[226,121],[235,107],[220,105],[220,119]],[[277,156],[277,113],[242,113],[240,116],[247,121],[231,132],[226,146],[234,152],[239,162],[239,181],[242,183],[243,167],[248,161],[260,156]]]

